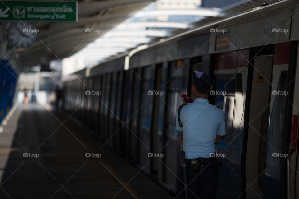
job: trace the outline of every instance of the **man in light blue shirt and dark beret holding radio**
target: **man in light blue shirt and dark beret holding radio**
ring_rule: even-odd
[[[208,101],[214,84],[209,75],[194,71],[192,90],[196,98],[192,103],[186,103],[183,98],[183,105],[178,109],[176,128],[182,133],[178,140],[183,143],[186,155],[187,184],[183,183],[181,168],[176,198],[185,198],[187,186],[188,198],[216,199],[221,164],[214,157],[215,144],[219,144],[226,131],[223,110]]]

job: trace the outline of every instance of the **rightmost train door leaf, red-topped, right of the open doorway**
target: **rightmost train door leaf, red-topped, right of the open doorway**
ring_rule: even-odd
[[[291,130],[292,112],[297,111],[298,101],[293,101],[297,46],[290,42],[275,44],[271,97],[268,116],[267,144],[265,147],[265,198],[287,198],[288,175],[295,174],[295,165],[289,159],[292,144],[291,132],[297,135],[298,126]],[[289,61],[292,61],[289,63]],[[295,93],[298,90],[295,90]],[[296,94],[295,94],[296,95]],[[294,106],[293,106],[294,104]],[[297,121],[295,121],[297,123]],[[297,136],[296,136],[297,137]],[[293,137],[293,140],[296,139]],[[289,168],[289,170],[287,169]],[[290,173],[287,173],[289,171]],[[292,177],[291,177],[292,178]],[[294,182],[294,181],[293,181]],[[292,183],[292,181],[291,181]],[[292,187],[292,184],[289,184]],[[294,189],[293,189],[294,190]],[[291,193],[294,194],[293,192]],[[294,196],[294,195],[293,195]],[[295,197],[289,197],[295,198]],[[296,197],[297,198],[297,197]]]

